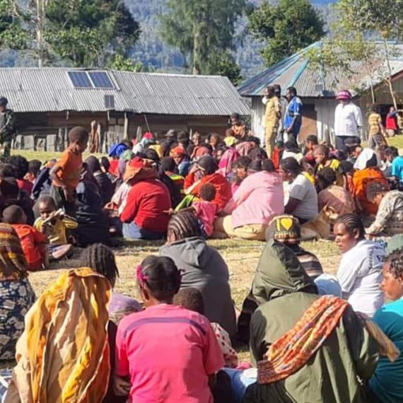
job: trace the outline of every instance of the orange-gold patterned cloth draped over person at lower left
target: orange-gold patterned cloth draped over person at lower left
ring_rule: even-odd
[[[5,402],[103,402],[110,288],[103,275],[83,268],[64,271],[45,289],[25,316]]]

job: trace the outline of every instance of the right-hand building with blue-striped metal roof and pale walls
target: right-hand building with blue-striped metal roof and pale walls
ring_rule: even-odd
[[[376,42],[375,42],[376,43]],[[375,88],[375,100],[380,105],[381,115],[385,117],[392,99],[382,76],[385,76],[386,62],[374,56],[373,69],[375,74],[368,76],[366,66],[361,62],[352,62],[349,68],[354,71],[349,76],[334,69],[312,69],[305,54],[310,49],[319,48],[322,42],[315,42],[300,52],[287,57],[281,62],[245,81],[238,90],[241,95],[251,99],[251,129],[260,139],[264,139],[264,112],[262,103],[264,88],[279,84],[282,94],[286,88],[295,87],[298,97],[304,104],[303,126],[300,141],[309,134],[316,134],[320,140],[332,140],[334,134],[334,110],[337,106],[336,94],[339,90],[349,89],[354,95],[354,102],[368,115],[372,98],[370,82]],[[403,103],[403,45],[392,43],[394,55],[390,58],[392,69],[392,86],[399,107]],[[366,129],[366,127],[364,127]],[[365,131],[364,131],[365,134]]]

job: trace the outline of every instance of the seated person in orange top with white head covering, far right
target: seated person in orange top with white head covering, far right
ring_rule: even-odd
[[[375,215],[378,211],[378,205],[368,200],[368,184],[377,181],[389,188],[385,175],[378,168],[378,159],[375,151],[370,148],[364,148],[358,156],[354,168],[356,171],[353,175],[353,186],[357,211],[366,216]]]

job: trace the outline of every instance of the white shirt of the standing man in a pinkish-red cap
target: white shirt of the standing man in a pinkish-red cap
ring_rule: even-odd
[[[336,136],[359,136],[358,127],[363,126],[361,108],[354,103],[339,103],[334,112],[334,134]]]

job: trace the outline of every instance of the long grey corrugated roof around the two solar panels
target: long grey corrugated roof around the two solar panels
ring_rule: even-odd
[[[115,89],[74,88],[67,73],[82,70],[3,68],[0,93],[8,98],[15,112],[100,112],[105,110],[105,95],[114,95],[117,111],[161,115],[250,114],[249,107],[226,77],[105,70]]]

